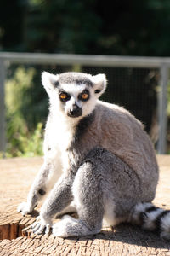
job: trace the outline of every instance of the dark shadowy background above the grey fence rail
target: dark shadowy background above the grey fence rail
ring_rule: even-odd
[[[169,0],[1,0],[0,48],[48,53],[170,54]]]

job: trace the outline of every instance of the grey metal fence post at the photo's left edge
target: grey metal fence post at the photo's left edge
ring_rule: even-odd
[[[0,151],[5,154],[5,62],[0,60]]]

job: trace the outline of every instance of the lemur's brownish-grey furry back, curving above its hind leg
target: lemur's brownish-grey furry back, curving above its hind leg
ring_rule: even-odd
[[[156,156],[139,120],[124,108],[98,101],[91,131],[98,136],[101,148],[120,157],[137,173],[141,183],[155,191],[158,181]]]

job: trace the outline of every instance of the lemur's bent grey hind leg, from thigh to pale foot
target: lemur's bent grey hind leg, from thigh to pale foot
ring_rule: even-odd
[[[110,224],[124,221],[126,210],[132,207],[133,195],[135,203],[135,186],[139,185],[138,181],[131,185],[131,178],[133,170],[120,158],[104,148],[94,148],[82,162],[73,183],[79,218],[65,216],[54,224],[54,236],[96,234],[102,227],[103,218],[107,218]],[[119,207],[122,204],[124,206]]]

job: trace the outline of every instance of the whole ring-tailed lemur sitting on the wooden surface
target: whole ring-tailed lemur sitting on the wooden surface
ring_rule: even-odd
[[[158,166],[143,125],[124,108],[101,102],[104,74],[42,73],[50,102],[44,139],[44,163],[18,211],[31,212],[44,201],[36,234],[85,236],[108,224],[132,222],[159,230],[170,239],[170,211],[154,207]],[[56,182],[56,173],[63,174]],[[78,219],[53,218],[71,204]]]

